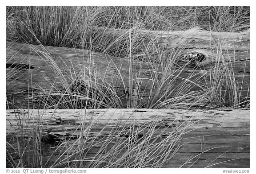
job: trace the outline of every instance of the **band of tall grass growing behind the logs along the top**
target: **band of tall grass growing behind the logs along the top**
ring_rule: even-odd
[[[128,51],[127,37],[112,38],[102,35],[102,32],[94,32],[92,27],[174,31],[199,26],[209,31],[237,32],[250,27],[250,7],[9,6],[6,8],[6,19],[8,25],[14,25],[12,28],[7,25],[7,39],[28,43],[39,40],[43,45],[77,47],[96,52],[108,50],[106,48],[112,45],[115,52],[119,52]],[[137,37],[136,33],[131,37]],[[116,40],[117,44],[113,44]],[[135,42],[138,48],[142,47],[140,40],[138,38]],[[136,49],[137,46],[131,47]]]

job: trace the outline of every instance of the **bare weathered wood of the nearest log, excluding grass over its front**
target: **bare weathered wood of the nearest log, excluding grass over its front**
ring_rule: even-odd
[[[102,140],[107,137],[112,137],[113,141],[108,144],[106,154],[118,142],[116,140],[119,139],[120,143],[131,141],[134,139],[133,134],[143,138],[148,135],[147,132],[153,130],[152,137],[159,135],[156,142],[160,142],[176,132],[175,135],[180,137],[180,140],[176,141],[180,148],[176,149],[177,154],[166,164],[168,168],[250,168],[250,110],[248,109],[83,109],[20,112],[6,110],[8,142],[16,142],[15,137],[22,135],[21,132],[14,134],[21,126],[24,137],[31,136],[33,131],[40,128],[41,132],[53,135],[52,139],[61,142],[60,147],[65,143],[72,144],[82,135],[81,132],[87,132],[84,136],[101,142],[88,151],[86,156],[88,159],[96,155]],[[43,162],[59,158],[58,154],[62,148],[57,149],[58,143],[52,142],[54,141],[41,142],[44,144]],[[11,149],[9,151],[13,152]]]

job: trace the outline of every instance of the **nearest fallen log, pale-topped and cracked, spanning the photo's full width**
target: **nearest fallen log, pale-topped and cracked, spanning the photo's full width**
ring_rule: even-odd
[[[8,153],[17,161],[17,141],[39,141],[39,167],[48,168],[63,167],[63,159],[72,161],[80,155],[76,146],[82,146],[81,141],[86,154],[79,158],[86,168],[132,160],[139,149],[140,159],[160,158],[168,168],[250,168],[250,110],[6,110],[6,141],[12,144]],[[32,147],[24,151],[23,158],[32,158]],[[120,167],[124,163],[121,160]]]

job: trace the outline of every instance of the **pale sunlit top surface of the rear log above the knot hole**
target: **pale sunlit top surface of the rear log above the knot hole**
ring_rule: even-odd
[[[113,29],[105,27],[93,27],[92,32],[102,32],[103,35],[111,37],[125,37],[126,35],[137,35],[144,37],[154,36],[159,45],[184,48],[202,48],[207,50],[228,50],[228,51],[250,51],[250,32],[216,32],[205,31],[200,27],[194,27],[185,31],[150,31],[140,28]]]

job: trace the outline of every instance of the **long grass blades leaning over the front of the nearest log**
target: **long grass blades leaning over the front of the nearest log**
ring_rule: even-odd
[[[140,121],[138,124],[134,120],[126,123],[119,120],[95,132],[99,120],[91,120],[90,123],[81,121],[73,133],[52,135],[45,131],[42,119],[35,122],[29,118],[32,112],[36,110],[15,112],[16,120],[20,121],[17,128],[13,127],[15,134],[7,135],[8,168],[164,167],[180,151],[180,139],[189,124],[188,120],[173,128],[160,128],[164,122]],[[44,118],[44,114],[40,112],[39,117]]]

